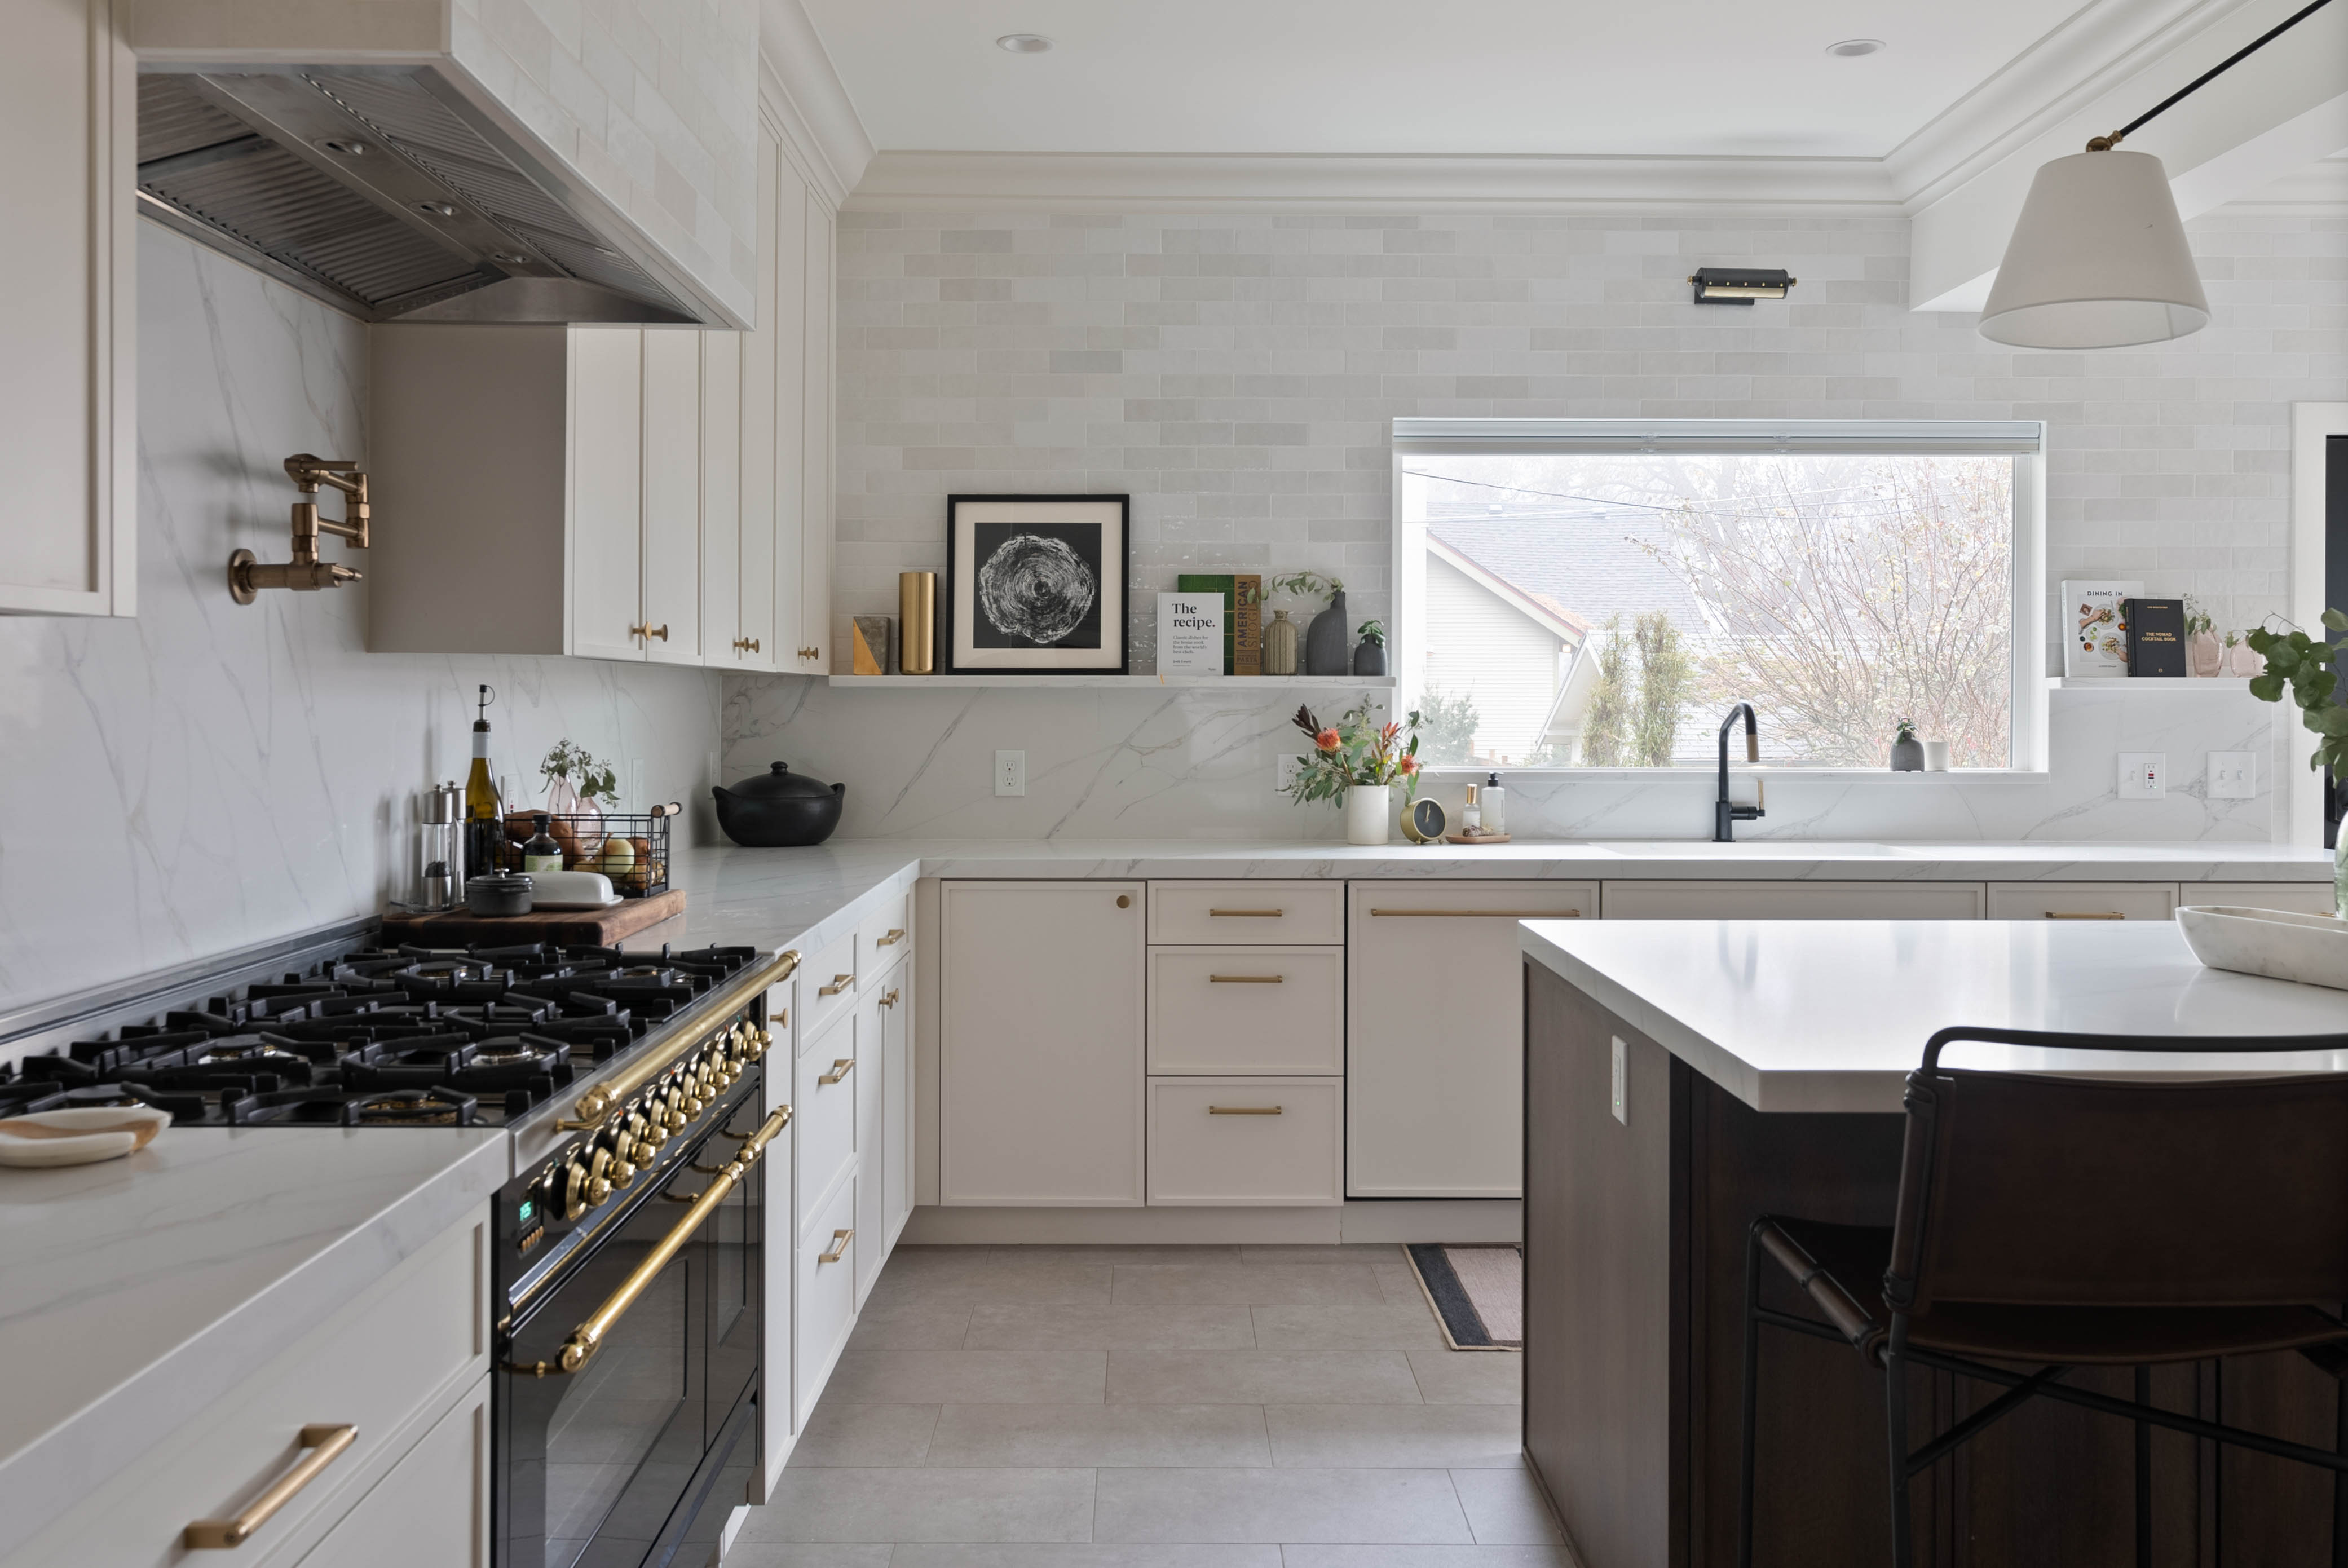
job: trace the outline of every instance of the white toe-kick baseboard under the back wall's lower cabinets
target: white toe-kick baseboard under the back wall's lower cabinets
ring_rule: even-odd
[[[1329,1209],[913,1209],[909,1246],[1315,1246],[1517,1242],[1524,1204],[1369,1199]]]

